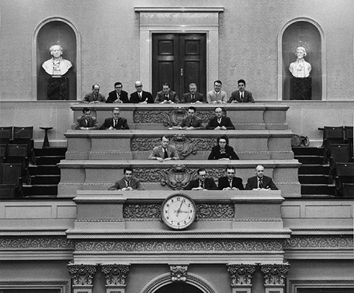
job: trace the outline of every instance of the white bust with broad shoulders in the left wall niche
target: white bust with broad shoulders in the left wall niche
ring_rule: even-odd
[[[52,55],[52,58],[42,64],[45,72],[54,76],[61,76],[66,74],[72,67],[72,63],[61,57],[63,54],[63,48],[61,45],[52,45],[49,48],[49,53]]]

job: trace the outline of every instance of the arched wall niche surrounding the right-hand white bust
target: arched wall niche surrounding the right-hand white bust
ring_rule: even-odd
[[[321,27],[305,17],[291,20],[278,36],[278,100],[291,100],[289,65],[296,60],[297,47],[305,47],[311,64],[311,100],[325,100],[325,40]]]

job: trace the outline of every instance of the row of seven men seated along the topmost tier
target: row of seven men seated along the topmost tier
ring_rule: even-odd
[[[128,97],[128,93],[123,91],[123,84],[116,82],[114,84],[114,91],[108,94],[106,100],[105,96],[100,93],[100,85],[93,84],[92,92],[84,96],[81,103],[254,103],[254,98],[250,91],[245,90],[245,80],[238,80],[238,90],[231,93],[228,98],[225,91],[222,91],[222,82],[215,80],[214,89],[208,91],[206,97],[203,93],[197,91],[197,84],[190,84],[190,91],[184,93],[182,98],[178,98],[176,92],[171,90],[169,84],[162,84],[162,91],[158,91],[155,99],[148,91],[143,91],[143,84],[140,81],[135,82],[134,93]]]

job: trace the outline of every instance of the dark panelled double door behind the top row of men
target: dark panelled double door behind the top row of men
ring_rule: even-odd
[[[197,84],[206,95],[206,34],[153,34],[153,96],[165,82],[178,97],[189,91],[189,84]]]

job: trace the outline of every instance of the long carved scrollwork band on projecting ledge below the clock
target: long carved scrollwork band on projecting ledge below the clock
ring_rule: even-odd
[[[136,241],[78,241],[76,251],[109,252],[224,252],[236,251],[282,251],[282,241],[271,239],[236,240],[236,239],[176,239],[176,240],[136,240]]]

